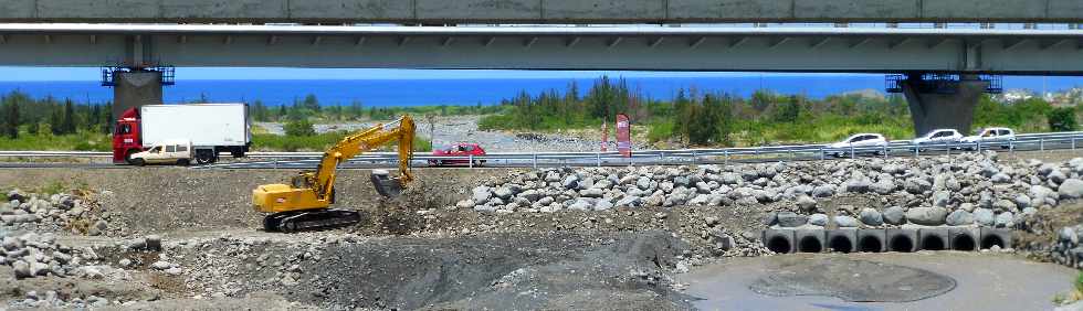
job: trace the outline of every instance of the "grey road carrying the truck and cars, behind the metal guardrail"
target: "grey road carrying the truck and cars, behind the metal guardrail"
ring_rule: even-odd
[[[1049,150],[1076,150],[1076,141],[1083,141],[1083,135],[1071,133],[1049,133],[1056,138],[1033,137],[1017,140],[1012,149],[993,146],[991,150],[1000,152],[1037,152]],[[1038,137],[1038,136],[1035,136]],[[688,150],[641,150],[633,151],[633,157],[622,158],[616,152],[546,152],[546,153],[491,153],[485,158],[474,158],[475,161],[484,163],[481,167],[488,168],[546,168],[546,167],[625,167],[625,165],[682,165],[682,164],[726,164],[726,163],[757,163],[757,162],[778,162],[778,161],[817,161],[840,159],[833,157],[834,153],[842,153],[842,158],[870,158],[870,157],[928,157],[956,154],[959,152],[974,152],[955,147],[927,147],[915,150],[905,142],[894,142],[886,149],[871,148],[858,149],[850,152],[850,149],[824,149],[822,146],[784,146],[784,147],[756,147],[756,148],[730,148],[730,149],[688,149]],[[982,147],[982,150],[986,150]],[[886,151],[886,152],[885,152]],[[885,154],[886,153],[886,154]],[[273,156],[278,157],[278,156]],[[33,159],[33,158],[31,158]],[[413,167],[431,167],[429,159],[435,159],[428,154],[416,154],[412,161]],[[448,158],[443,158],[448,159]],[[466,160],[466,158],[462,158]],[[106,160],[103,160],[106,161]],[[193,165],[192,169],[315,169],[319,162],[315,156],[296,157],[283,156],[282,158],[271,158],[263,156],[260,158],[232,159],[222,158],[222,162],[207,165]],[[387,153],[362,154],[361,157],[346,161],[340,165],[343,169],[393,169],[397,167],[396,157]],[[459,165],[469,167],[469,165]],[[0,162],[0,168],[78,168],[78,169],[118,169],[130,168],[128,165],[114,165],[104,162]]]

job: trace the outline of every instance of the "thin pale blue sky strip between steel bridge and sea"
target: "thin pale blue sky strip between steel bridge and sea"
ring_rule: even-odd
[[[701,72],[598,72],[598,71],[437,71],[437,69],[361,69],[361,68],[266,68],[266,67],[183,67],[177,78],[206,79],[448,79],[448,78],[597,78],[601,75],[623,77],[728,77],[758,76],[760,73]],[[808,76],[814,74],[777,74]],[[822,74],[821,74],[822,75]],[[847,74],[828,74],[847,75]],[[96,67],[3,67],[0,82],[23,81],[98,81]]]

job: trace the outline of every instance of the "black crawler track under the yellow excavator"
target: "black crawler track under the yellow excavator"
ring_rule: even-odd
[[[345,227],[361,221],[361,214],[346,210],[316,210],[304,212],[284,212],[263,218],[263,229],[266,232],[307,232]]]

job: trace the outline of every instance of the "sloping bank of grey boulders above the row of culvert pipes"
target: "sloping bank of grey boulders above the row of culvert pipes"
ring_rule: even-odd
[[[560,168],[512,172],[455,204],[495,213],[608,211],[640,206],[774,206],[777,227],[1014,227],[1026,215],[1083,197],[1083,158],[1005,163],[992,151],[930,158],[768,164]],[[865,197],[870,206],[824,205]]]

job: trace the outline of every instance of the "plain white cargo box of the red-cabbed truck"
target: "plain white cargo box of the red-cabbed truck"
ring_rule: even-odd
[[[188,140],[193,147],[239,147],[252,138],[244,104],[147,105],[139,115],[143,146]]]

